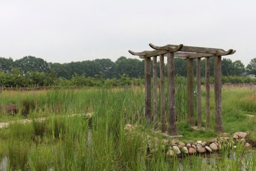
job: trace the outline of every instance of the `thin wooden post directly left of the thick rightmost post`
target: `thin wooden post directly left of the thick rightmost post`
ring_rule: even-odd
[[[210,127],[210,57],[205,58],[206,129]]]

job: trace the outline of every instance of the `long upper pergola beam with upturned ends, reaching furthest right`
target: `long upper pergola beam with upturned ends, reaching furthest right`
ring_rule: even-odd
[[[153,44],[150,44],[150,47],[155,50],[168,50],[169,48],[178,48],[179,46],[178,45],[165,45],[162,47],[158,47]],[[230,49],[228,51],[224,51],[223,49],[217,49],[217,48],[203,48],[203,47],[193,47],[193,46],[182,46],[180,51],[181,52],[209,53],[209,54],[216,54],[216,55],[218,55],[218,53],[220,53],[220,55],[222,55],[222,54],[231,55],[234,52],[236,52],[232,49]]]

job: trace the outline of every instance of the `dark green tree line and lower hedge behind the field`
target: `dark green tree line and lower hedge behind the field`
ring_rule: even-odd
[[[205,59],[201,61],[202,77],[205,74]],[[194,60],[194,74],[196,75],[196,60]],[[175,58],[176,76],[186,77],[186,60]],[[159,71],[160,63],[157,63]],[[250,79],[238,79],[246,74],[256,75],[256,58],[245,66],[241,60],[232,61],[222,59],[223,76],[233,76],[231,80],[237,83],[250,82]],[[165,65],[165,75],[167,71]],[[214,58],[210,58],[210,75],[214,75]],[[122,86],[123,84],[139,84],[144,77],[144,61],[139,59],[119,57],[111,59],[95,59],[70,63],[52,63],[34,56],[21,59],[0,57],[0,83],[4,87],[29,86],[97,86],[102,83]],[[158,72],[158,77],[160,73]],[[225,81],[228,81],[224,77]],[[230,81],[231,82],[231,81]],[[252,81],[253,82],[253,81]]]

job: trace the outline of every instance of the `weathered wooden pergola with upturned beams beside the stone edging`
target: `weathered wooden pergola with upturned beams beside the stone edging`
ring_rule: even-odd
[[[167,78],[168,78],[168,129],[169,135],[177,135],[176,112],[175,112],[175,68],[174,57],[181,57],[187,60],[187,106],[188,106],[188,123],[195,125],[194,119],[194,73],[193,60],[197,60],[197,112],[198,112],[198,127],[202,126],[201,121],[201,58],[205,57],[205,79],[206,79],[206,127],[209,127],[209,58],[215,58],[214,78],[215,78],[215,130],[223,131],[222,114],[221,114],[221,56],[231,55],[236,50],[224,51],[216,48],[191,47],[183,45],[166,45],[162,47],[150,44],[153,51],[133,52],[132,55],[137,55],[144,59],[145,62],[145,115],[148,122],[152,122],[151,116],[151,57],[153,57],[153,89],[154,89],[154,129],[158,127],[158,95],[157,95],[157,56],[160,58],[160,111],[161,111],[161,131],[165,132],[165,101],[164,101],[164,56],[167,56]]]

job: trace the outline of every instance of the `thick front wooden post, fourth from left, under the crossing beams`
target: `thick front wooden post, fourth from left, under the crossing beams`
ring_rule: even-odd
[[[177,135],[176,111],[175,111],[175,75],[174,75],[174,53],[167,54],[167,76],[168,76],[168,134]]]

